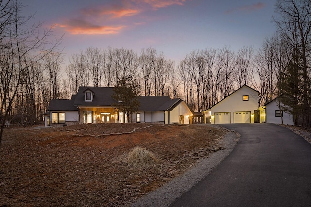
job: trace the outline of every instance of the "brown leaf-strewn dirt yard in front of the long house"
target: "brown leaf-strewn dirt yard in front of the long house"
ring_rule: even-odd
[[[88,124],[5,129],[0,206],[121,206],[181,175],[217,148],[225,129],[210,125]],[[128,134],[112,134],[131,132]],[[127,163],[136,146],[160,164]],[[220,148],[221,149],[221,148]]]

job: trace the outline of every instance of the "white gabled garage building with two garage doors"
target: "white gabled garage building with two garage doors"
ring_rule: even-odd
[[[210,109],[203,111],[205,123],[254,123],[258,109],[258,93],[243,85]]]

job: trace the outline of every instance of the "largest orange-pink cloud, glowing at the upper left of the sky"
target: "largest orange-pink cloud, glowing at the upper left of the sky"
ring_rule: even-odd
[[[172,5],[184,5],[188,0],[129,0],[119,4],[83,8],[75,13],[76,18],[65,20],[59,27],[71,34],[118,34],[125,27],[145,24],[133,21],[129,16],[148,10],[157,10]]]

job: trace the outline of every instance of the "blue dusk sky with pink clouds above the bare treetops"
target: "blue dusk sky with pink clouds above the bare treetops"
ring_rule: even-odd
[[[22,0],[24,15],[53,26],[64,66],[94,47],[155,48],[181,61],[192,50],[243,46],[259,49],[276,31],[276,0]]]

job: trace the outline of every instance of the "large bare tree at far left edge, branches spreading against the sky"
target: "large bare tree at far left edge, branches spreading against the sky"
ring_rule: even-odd
[[[4,46],[0,49],[0,143],[5,121],[12,112],[23,71],[48,55],[51,48],[55,47],[49,44],[48,39],[52,28],[42,32],[39,31],[40,24],[29,28],[26,25],[32,16],[21,16],[22,5],[19,1],[9,1],[5,5],[7,9],[3,11],[10,11],[10,13],[5,15],[6,23],[1,24],[0,29],[1,45]],[[59,41],[56,41],[56,45],[58,43]]]

